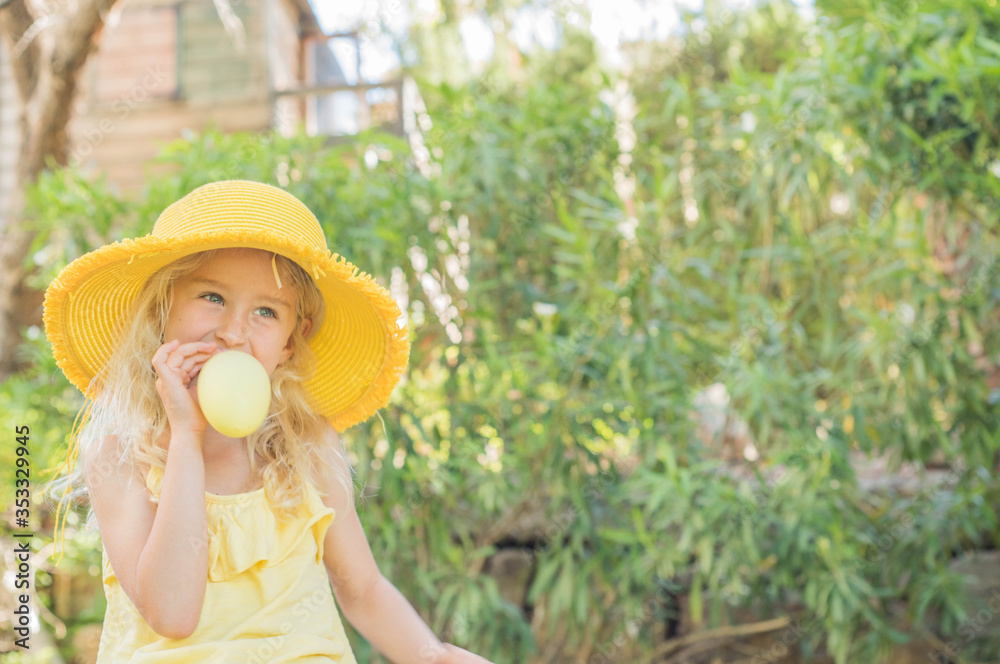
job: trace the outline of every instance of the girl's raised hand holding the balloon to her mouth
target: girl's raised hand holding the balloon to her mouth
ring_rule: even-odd
[[[218,348],[218,344],[211,341],[182,344],[174,339],[160,346],[153,355],[156,391],[163,400],[171,431],[201,435],[208,427],[201,408],[195,402],[191,381]]]

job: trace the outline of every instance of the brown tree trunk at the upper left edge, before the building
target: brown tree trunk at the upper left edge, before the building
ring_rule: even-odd
[[[45,14],[26,0],[0,2],[0,34],[12,55],[21,101],[21,153],[10,209],[0,214],[0,380],[19,368],[21,327],[35,322],[37,294],[25,286],[24,260],[35,233],[23,218],[24,188],[49,160],[65,164],[77,79],[94,50],[104,19],[116,0],[77,0],[45,5]]]

